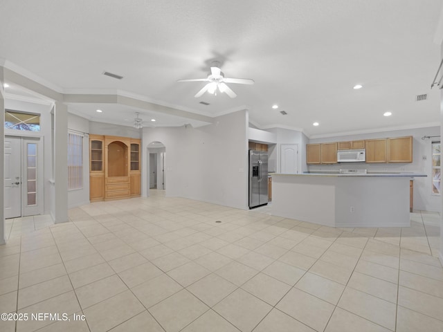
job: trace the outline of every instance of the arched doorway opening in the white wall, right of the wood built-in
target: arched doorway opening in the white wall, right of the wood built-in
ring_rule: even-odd
[[[165,156],[166,147],[162,142],[153,141],[147,145],[147,188],[166,190]]]

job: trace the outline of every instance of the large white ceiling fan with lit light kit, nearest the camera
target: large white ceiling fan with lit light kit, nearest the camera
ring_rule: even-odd
[[[210,66],[210,74],[208,78],[197,78],[195,80],[178,80],[177,82],[208,82],[197,94],[195,98],[199,98],[206,91],[217,95],[217,89],[220,92],[226,92],[230,98],[237,97],[237,94],[230,89],[226,83],[235,84],[254,84],[254,81],[249,78],[228,78],[224,77],[224,73],[221,73],[220,62],[214,61]]]

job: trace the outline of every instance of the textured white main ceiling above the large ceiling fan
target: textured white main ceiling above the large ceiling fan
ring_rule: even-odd
[[[208,116],[246,106],[257,127],[312,137],[412,127],[440,121],[430,85],[441,10],[441,0],[2,0],[0,57],[70,93],[127,91]],[[177,80],[206,77],[214,59],[255,85],[194,98],[204,83]],[[123,122],[119,111],[109,117]]]

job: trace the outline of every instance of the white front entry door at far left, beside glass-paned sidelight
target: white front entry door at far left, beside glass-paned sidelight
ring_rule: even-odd
[[[5,218],[21,216],[21,138],[5,136]]]

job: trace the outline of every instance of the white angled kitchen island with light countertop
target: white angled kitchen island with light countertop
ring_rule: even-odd
[[[414,173],[272,174],[272,210],[334,228],[409,227]]]

